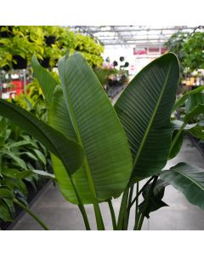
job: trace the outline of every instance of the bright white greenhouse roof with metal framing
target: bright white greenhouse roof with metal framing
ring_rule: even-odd
[[[96,38],[107,47],[162,47],[175,32],[193,32],[201,26],[69,26],[71,31]]]

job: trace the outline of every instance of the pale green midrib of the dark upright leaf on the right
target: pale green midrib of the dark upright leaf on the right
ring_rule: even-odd
[[[139,160],[139,155],[140,155],[141,152],[142,152],[142,149],[143,149],[143,147],[144,147],[144,143],[145,143],[145,141],[146,141],[146,138],[147,138],[148,135],[149,135],[151,125],[152,125],[153,120],[154,120],[154,118],[155,118],[155,116],[156,116],[156,112],[157,112],[157,110],[158,110],[158,108],[159,108],[159,105],[160,105],[160,102],[161,102],[161,98],[162,98],[162,96],[163,96],[163,92],[164,92],[164,90],[166,89],[167,79],[168,79],[168,77],[169,77],[169,73],[170,73],[171,67],[172,67],[172,63],[170,64],[170,66],[169,66],[169,68],[168,68],[168,71],[167,71],[167,78],[165,79],[165,82],[164,82],[164,84],[163,84],[163,88],[162,88],[162,90],[161,90],[161,93],[160,93],[158,102],[156,103],[156,108],[154,109],[154,111],[153,111],[153,113],[152,113],[152,116],[151,116],[151,118],[150,118],[150,123],[149,123],[149,125],[147,126],[147,129],[146,129],[146,131],[145,131],[145,133],[144,133],[143,140],[142,140],[142,142],[140,143],[138,153],[136,154],[136,157],[135,157],[135,159],[134,159],[134,161],[133,161],[133,170],[134,170],[134,168],[135,168],[135,166],[136,166],[136,164],[137,164],[137,162],[138,162],[138,160]]]

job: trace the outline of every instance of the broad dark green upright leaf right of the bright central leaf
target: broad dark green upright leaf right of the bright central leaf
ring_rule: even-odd
[[[178,77],[176,55],[162,55],[136,75],[116,102],[132,150],[133,178],[154,175],[167,162]]]

